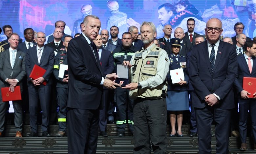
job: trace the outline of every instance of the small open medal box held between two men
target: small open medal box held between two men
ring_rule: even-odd
[[[125,87],[129,83],[129,66],[117,64],[117,76],[116,83]]]

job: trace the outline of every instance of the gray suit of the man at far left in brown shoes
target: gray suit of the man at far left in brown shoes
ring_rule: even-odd
[[[17,86],[21,86],[21,81],[26,75],[26,54],[20,50],[16,53],[15,63],[11,67],[10,51],[9,49],[0,53],[0,87],[10,87],[5,82],[5,79],[18,79]],[[0,93],[1,96],[1,93]],[[16,131],[22,131],[22,103],[21,101],[13,101],[14,107],[14,124]],[[9,102],[3,102],[2,96],[0,97],[0,132],[4,130],[5,113],[9,109]]]

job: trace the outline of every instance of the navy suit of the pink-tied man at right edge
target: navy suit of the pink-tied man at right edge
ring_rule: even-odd
[[[256,100],[249,98],[249,99],[242,99],[240,92],[243,89],[243,77],[256,77],[256,58],[252,57],[253,66],[252,72],[250,73],[248,64],[246,63],[244,54],[237,58],[238,62],[238,70],[237,70],[237,78],[235,80],[234,86],[239,95],[239,132],[240,132],[240,139],[242,143],[246,143],[246,135],[247,135],[247,117],[248,117],[248,110],[251,114],[251,121],[252,121],[252,133],[254,136],[254,144],[256,143]],[[253,93],[251,93],[253,95]]]

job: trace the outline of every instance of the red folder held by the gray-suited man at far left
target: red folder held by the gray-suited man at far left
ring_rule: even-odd
[[[13,92],[9,91],[9,87],[3,87],[1,94],[3,102],[21,100],[20,86],[15,86]]]

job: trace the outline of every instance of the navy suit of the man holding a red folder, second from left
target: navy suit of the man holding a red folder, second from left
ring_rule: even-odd
[[[43,78],[47,82],[46,86],[39,85],[34,86],[30,81],[30,74],[34,65],[38,65],[46,69]],[[37,109],[38,100],[40,100],[40,106],[42,109],[42,131],[47,131],[49,125],[49,106],[50,106],[50,95],[51,95],[51,85],[53,83],[52,73],[54,64],[54,53],[53,49],[44,46],[44,50],[41,56],[40,63],[37,59],[36,46],[29,48],[26,54],[26,71],[28,77],[28,87],[29,87],[29,107],[30,107],[30,126],[31,131],[37,132]]]

